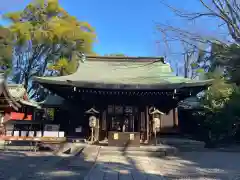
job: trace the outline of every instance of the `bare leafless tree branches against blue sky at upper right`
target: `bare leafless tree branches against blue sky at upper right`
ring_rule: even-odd
[[[194,24],[198,19],[211,18],[219,22],[219,27],[226,27],[228,35],[231,41],[220,39],[218,36],[204,36],[200,32],[196,33],[191,29],[184,29],[171,24],[157,23],[157,30],[165,42],[169,43],[185,43],[188,45],[188,51],[198,53],[199,51],[213,53],[211,47],[222,46],[222,48],[229,48],[234,43],[239,45],[240,43],[240,5],[237,0],[197,0],[205,11],[203,12],[187,12],[186,10],[180,10],[167,3],[167,0],[161,0],[162,4],[172,11],[176,16],[182,20],[187,20]],[[185,21],[186,22],[186,21]],[[170,47],[171,45],[168,45]],[[184,49],[182,50],[184,51]],[[222,52],[220,55],[222,56]],[[211,54],[213,55],[213,54]],[[218,54],[219,55],[219,54]]]

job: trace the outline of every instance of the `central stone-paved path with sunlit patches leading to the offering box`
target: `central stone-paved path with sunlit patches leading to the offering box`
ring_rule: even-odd
[[[99,155],[85,180],[162,180],[156,164],[147,157]]]

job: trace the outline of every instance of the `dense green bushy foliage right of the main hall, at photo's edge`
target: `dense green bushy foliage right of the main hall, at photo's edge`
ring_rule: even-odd
[[[240,123],[240,88],[230,83],[220,69],[207,73],[206,77],[214,81],[201,102],[205,108],[204,124],[215,141],[233,137]]]

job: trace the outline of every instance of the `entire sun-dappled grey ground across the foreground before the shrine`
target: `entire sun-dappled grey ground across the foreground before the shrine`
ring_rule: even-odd
[[[91,169],[92,161],[82,155],[0,152],[0,179],[237,180],[238,176],[240,179],[240,153],[186,152],[167,158],[100,154]]]

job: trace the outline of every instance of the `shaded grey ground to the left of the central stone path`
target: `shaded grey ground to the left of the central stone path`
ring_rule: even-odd
[[[0,151],[0,180],[83,180],[97,155],[94,146],[76,156]]]

